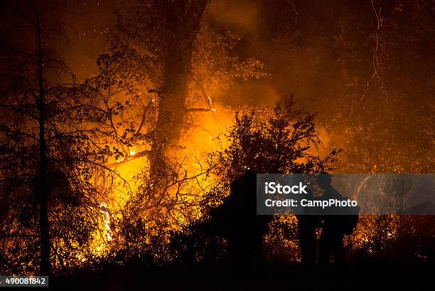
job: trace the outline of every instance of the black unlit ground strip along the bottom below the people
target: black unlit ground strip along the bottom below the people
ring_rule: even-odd
[[[53,277],[49,290],[435,290],[435,265],[364,263],[341,268],[131,265]]]

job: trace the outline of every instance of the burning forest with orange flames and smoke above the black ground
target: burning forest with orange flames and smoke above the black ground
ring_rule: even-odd
[[[0,7],[0,275],[62,289],[77,274],[222,275],[251,259],[301,277],[341,260],[433,268],[434,1]],[[331,174],[382,203],[340,233],[343,258],[323,255],[330,219],[256,215],[256,174]],[[421,215],[384,211],[414,192]]]

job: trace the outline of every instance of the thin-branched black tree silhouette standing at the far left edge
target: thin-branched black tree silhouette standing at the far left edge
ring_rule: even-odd
[[[96,136],[101,116],[92,90],[56,52],[70,33],[50,13],[61,7],[25,1],[6,8],[15,25],[0,43],[1,249],[5,273],[47,275],[87,259],[104,208],[102,184],[114,174],[104,164],[117,151]]]

